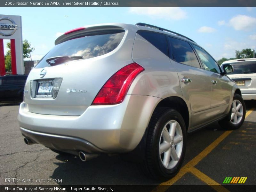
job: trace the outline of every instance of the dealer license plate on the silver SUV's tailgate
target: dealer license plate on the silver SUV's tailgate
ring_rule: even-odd
[[[38,81],[36,97],[52,97],[53,84],[53,79]]]

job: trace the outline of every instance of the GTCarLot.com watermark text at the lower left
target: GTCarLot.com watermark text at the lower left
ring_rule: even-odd
[[[18,179],[15,177],[6,177],[6,183],[62,183],[62,179]]]

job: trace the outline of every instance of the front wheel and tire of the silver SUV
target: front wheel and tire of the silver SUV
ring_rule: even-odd
[[[220,126],[227,130],[238,129],[244,123],[245,112],[246,108],[243,98],[239,94],[235,94],[228,116],[219,121]]]

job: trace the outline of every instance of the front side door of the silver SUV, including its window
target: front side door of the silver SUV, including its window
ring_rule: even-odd
[[[208,71],[207,73],[211,78],[212,114],[214,114],[214,116],[221,116],[223,115],[222,113],[227,109],[231,99],[232,87],[229,82],[230,80],[225,75],[220,74],[220,67],[210,54],[195,44],[192,44],[192,46],[195,48],[204,69]]]

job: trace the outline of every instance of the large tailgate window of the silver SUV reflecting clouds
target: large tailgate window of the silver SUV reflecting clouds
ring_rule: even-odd
[[[107,54],[120,44],[124,37],[124,31],[106,32],[105,34],[88,35],[79,38],[70,39],[63,43],[55,45],[36,65],[35,68],[44,68],[54,66],[54,60],[50,64],[46,60],[58,56],[82,56],[83,59],[89,59]],[[59,59],[60,60],[60,59]],[[68,60],[65,60],[68,61]],[[62,62],[64,63],[64,62]],[[58,63],[60,64],[60,62]]]

